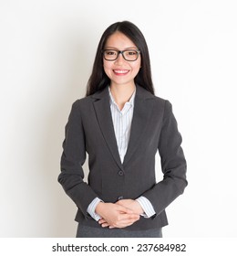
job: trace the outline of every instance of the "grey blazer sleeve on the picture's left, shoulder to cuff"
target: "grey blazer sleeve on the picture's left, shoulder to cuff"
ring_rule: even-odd
[[[98,196],[83,180],[82,165],[86,160],[86,145],[79,101],[72,105],[65,132],[63,154],[61,156],[61,173],[58,176],[58,182],[87,218],[88,205]]]

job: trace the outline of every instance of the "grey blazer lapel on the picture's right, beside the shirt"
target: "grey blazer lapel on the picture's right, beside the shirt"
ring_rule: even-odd
[[[146,127],[149,124],[149,116],[153,109],[154,101],[150,101],[152,98],[154,96],[149,91],[137,86],[129,145],[123,162],[124,166],[129,162],[130,157],[145,135]]]

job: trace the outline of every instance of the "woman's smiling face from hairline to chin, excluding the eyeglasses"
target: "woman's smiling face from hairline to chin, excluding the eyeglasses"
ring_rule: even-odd
[[[115,32],[108,37],[105,49],[126,50],[138,49],[136,45],[121,32]],[[139,73],[141,57],[135,61],[123,59],[122,54],[118,54],[118,59],[109,61],[103,59],[104,70],[110,79],[112,86],[125,85],[134,86],[134,78]]]

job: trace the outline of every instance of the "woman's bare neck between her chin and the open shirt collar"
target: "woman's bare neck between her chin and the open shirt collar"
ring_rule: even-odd
[[[110,91],[120,110],[122,110],[125,103],[129,101],[135,88],[134,83],[130,85],[110,85]]]

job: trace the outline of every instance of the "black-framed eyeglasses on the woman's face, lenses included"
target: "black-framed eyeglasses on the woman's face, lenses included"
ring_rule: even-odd
[[[118,59],[118,55],[121,54],[123,59],[127,61],[135,61],[139,58],[139,49],[125,49],[125,50],[116,50],[116,49],[104,49],[103,57],[108,61],[114,61]]]

